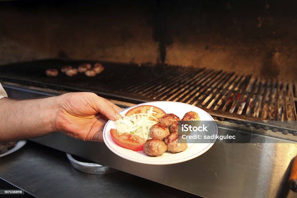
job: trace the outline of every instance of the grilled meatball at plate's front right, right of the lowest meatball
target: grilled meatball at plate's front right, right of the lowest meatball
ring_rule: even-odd
[[[164,142],[167,145],[167,151],[172,153],[184,151],[188,147],[187,140],[181,138],[181,136],[176,133],[170,133],[165,137]]]

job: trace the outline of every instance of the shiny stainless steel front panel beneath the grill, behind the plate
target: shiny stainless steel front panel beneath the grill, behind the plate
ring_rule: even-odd
[[[201,197],[297,197],[287,185],[295,143],[215,143],[203,155],[179,164],[146,165],[123,159],[104,143],[61,133],[34,141]],[[75,145],[75,146],[69,146]]]

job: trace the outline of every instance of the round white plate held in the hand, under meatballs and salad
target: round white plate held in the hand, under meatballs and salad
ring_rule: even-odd
[[[179,118],[182,118],[184,114],[189,111],[194,111],[198,113],[201,121],[214,121],[211,115],[209,115],[208,113],[206,113],[206,111],[198,107],[195,107],[190,104],[185,104],[181,102],[171,102],[171,101],[157,101],[157,102],[146,102],[146,103],[138,104],[133,107],[129,107],[125,110],[122,110],[120,114],[125,115],[127,111],[129,111],[130,109],[144,104],[159,107],[162,110],[164,110],[166,113],[174,113]],[[148,156],[143,151],[132,151],[117,145],[110,136],[110,129],[116,129],[115,121],[109,120],[103,129],[103,140],[107,145],[107,147],[113,153],[115,153],[116,155],[124,159],[128,159],[142,164],[161,165],[161,164],[176,164],[183,161],[188,161],[208,151],[208,149],[210,149],[215,142],[215,140],[211,140],[210,143],[188,143],[188,148],[185,151],[182,151],[180,153],[170,153],[166,151],[165,153],[163,153],[162,156],[151,157],[151,156]],[[218,134],[217,128],[216,128],[215,134]]]

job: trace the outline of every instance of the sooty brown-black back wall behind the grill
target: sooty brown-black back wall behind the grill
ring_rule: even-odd
[[[296,79],[296,1],[0,1],[0,64],[165,63]]]

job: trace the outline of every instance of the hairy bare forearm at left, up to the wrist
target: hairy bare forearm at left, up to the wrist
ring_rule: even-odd
[[[57,97],[0,99],[0,142],[36,137],[55,131]]]

